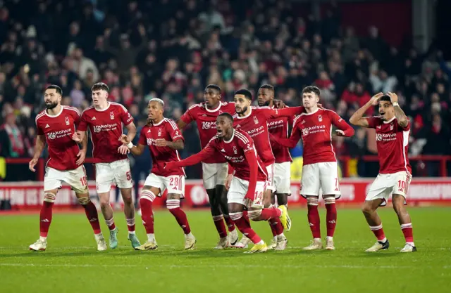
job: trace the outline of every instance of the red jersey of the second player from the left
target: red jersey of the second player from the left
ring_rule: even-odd
[[[92,157],[94,163],[109,163],[126,159],[127,155],[118,153],[122,145],[119,137],[123,134],[122,124],[133,122],[133,117],[121,104],[109,102],[104,110],[97,110],[94,106],[82,112],[78,130],[91,132]]]

